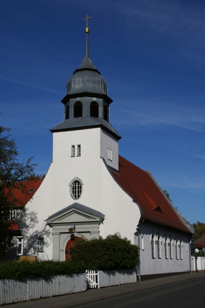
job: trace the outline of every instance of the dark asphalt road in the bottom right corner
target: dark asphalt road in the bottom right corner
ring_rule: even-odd
[[[62,308],[203,308],[205,307],[205,279],[159,285],[146,290],[137,290],[129,294],[91,300]]]

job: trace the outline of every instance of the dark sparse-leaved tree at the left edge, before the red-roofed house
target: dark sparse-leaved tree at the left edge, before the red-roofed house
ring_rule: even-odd
[[[0,126],[0,260],[6,258],[6,249],[11,245],[11,210],[19,205],[12,190],[20,189],[25,194],[25,183],[34,177],[35,164],[32,157],[26,162],[18,161],[15,140],[8,134],[9,128]]]

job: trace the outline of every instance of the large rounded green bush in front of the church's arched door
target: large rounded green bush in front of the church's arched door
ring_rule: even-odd
[[[72,261],[83,262],[86,269],[107,271],[109,269],[134,268],[138,261],[138,247],[120,235],[106,239],[77,241],[72,248]]]

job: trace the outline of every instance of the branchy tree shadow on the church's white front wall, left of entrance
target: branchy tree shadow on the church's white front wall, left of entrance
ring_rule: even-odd
[[[46,222],[43,222],[43,225],[37,229],[37,224],[38,219],[35,211],[29,211],[26,209],[19,217],[18,226],[24,239],[25,256],[38,255],[38,253],[42,253],[42,251],[39,250],[39,239],[43,239],[44,248],[51,244],[52,236],[50,227],[46,226]],[[44,254],[43,259],[48,259],[48,256]]]

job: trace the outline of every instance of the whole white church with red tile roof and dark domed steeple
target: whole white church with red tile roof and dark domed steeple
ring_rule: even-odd
[[[76,240],[120,233],[140,247],[141,276],[188,272],[193,227],[149,171],[118,155],[112,100],[90,60],[88,32],[62,100],[65,120],[51,129],[53,161],[20,220],[21,254],[64,261]]]

